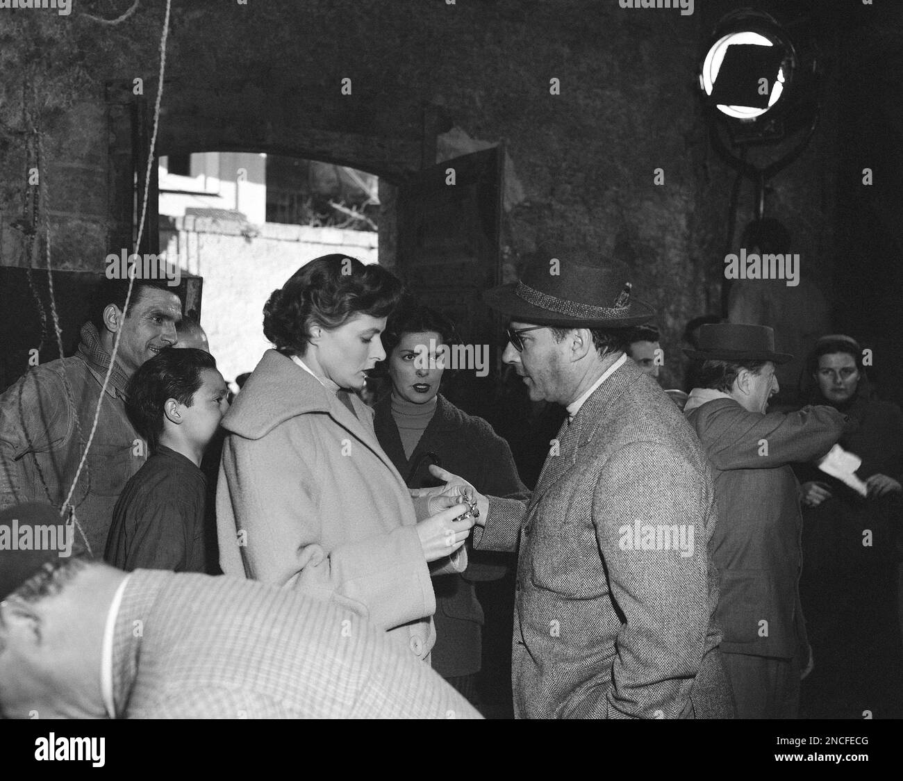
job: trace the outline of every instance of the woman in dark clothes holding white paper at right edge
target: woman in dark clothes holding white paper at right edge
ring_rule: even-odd
[[[875,395],[863,351],[825,336],[810,353],[801,399],[859,423],[840,446],[862,463],[862,497],[812,464],[795,467],[803,505],[800,598],[815,669],[803,683],[809,718],[903,717],[898,563],[903,520],[903,414]]]

